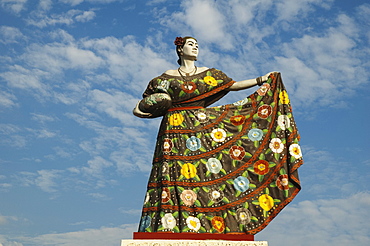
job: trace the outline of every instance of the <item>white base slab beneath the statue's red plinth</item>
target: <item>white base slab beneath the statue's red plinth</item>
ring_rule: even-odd
[[[268,246],[266,241],[122,240],[121,246]]]

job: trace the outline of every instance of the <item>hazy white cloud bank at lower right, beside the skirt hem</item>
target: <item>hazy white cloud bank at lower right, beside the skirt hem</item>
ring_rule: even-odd
[[[269,246],[369,245],[370,193],[289,205],[256,240]]]

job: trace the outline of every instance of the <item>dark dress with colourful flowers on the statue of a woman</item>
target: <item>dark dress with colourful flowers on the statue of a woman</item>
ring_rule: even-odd
[[[163,74],[144,93],[168,93],[139,232],[262,230],[299,192],[303,163],[279,73],[233,104],[204,108],[234,82],[217,69]]]

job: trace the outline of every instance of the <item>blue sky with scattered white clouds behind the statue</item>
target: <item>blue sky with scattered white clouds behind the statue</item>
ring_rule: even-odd
[[[369,245],[369,23],[365,0],[0,0],[0,245],[132,237],[159,119],[131,111],[185,35],[198,66],[290,94],[303,188],[256,240]]]

